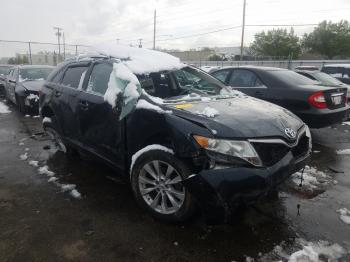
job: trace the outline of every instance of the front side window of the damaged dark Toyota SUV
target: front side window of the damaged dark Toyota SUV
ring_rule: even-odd
[[[108,88],[109,77],[112,70],[113,66],[108,63],[94,65],[86,91],[104,95]]]

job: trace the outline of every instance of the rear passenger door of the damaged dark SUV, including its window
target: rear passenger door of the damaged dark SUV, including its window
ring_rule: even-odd
[[[82,82],[90,63],[74,63],[69,65],[60,81],[60,88],[54,91],[59,103],[60,124],[63,135],[72,142],[79,144],[79,127],[77,125],[78,94],[81,92],[79,84]]]

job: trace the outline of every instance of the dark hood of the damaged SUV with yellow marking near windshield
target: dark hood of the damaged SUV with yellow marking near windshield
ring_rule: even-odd
[[[174,114],[210,129],[221,138],[284,137],[304,123],[290,111],[249,96],[169,105]],[[206,111],[209,114],[206,114]],[[210,113],[217,115],[210,116]]]

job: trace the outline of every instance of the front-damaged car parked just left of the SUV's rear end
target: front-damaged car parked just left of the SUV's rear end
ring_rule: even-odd
[[[22,113],[38,111],[39,89],[53,68],[46,65],[12,67],[6,77],[6,99],[17,105]]]

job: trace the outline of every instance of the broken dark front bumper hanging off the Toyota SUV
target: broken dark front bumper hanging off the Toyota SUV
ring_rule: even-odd
[[[204,170],[190,176],[184,185],[197,199],[209,220],[224,221],[237,203],[256,201],[275,189],[291,174],[302,169],[310,154],[296,160],[289,152],[267,168],[226,168]]]

